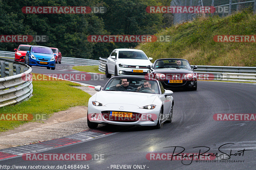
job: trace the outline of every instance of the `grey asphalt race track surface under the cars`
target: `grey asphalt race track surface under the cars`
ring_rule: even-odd
[[[70,64],[56,64],[56,70],[47,70],[43,67],[32,68],[34,73],[59,74],[68,72],[62,67],[67,65]],[[92,79],[81,81],[81,83],[103,86],[107,80],[108,78],[104,76],[103,80]],[[91,170],[255,169],[256,122],[216,121],[213,118],[214,114],[256,114],[255,89],[256,84],[251,83],[199,81],[197,91],[174,91],[173,122],[164,123],[161,129],[105,125],[97,129],[114,133],[40,152],[89,153],[92,155],[90,160],[28,161],[19,156],[2,160],[0,165],[89,165]],[[183,152],[181,147],[185,149]],[[209,151],[206,147],[209,147]],[[218,153],[222,156],[212,160],[215,162],[209,162],[209,159],[201,162],[148,160],[156,159],[157,154],[147,156],[149,153],[160,153],[163,156],[162,153],[173,152],[206,152]],[[99,159],[100,154],[101,159]],[[166,157],[163,156],[162,159]],[[131,168],[124,165],[131,165]]]

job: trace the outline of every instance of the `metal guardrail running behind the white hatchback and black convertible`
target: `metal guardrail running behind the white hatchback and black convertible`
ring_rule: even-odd
[[[99,71],[105,72],[107,59],[100,57],[99,62]],[[256,67],[198,65],[196,72],[199,80],[256,82]]]

